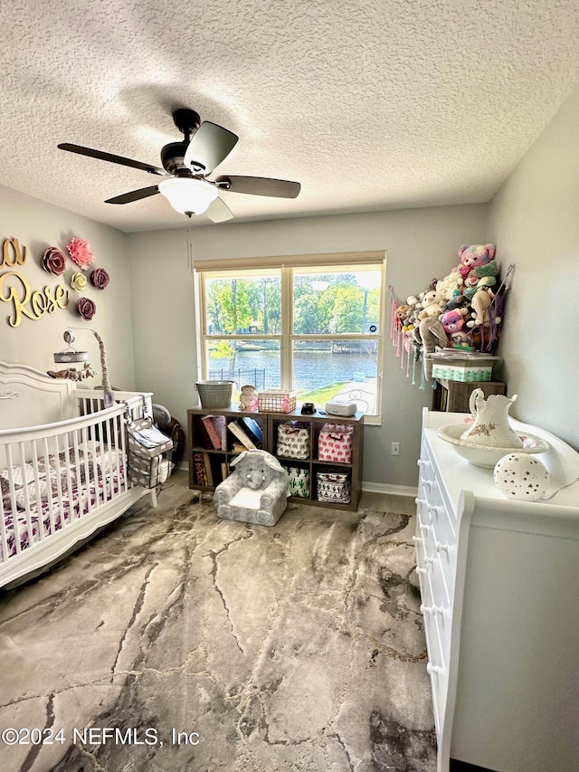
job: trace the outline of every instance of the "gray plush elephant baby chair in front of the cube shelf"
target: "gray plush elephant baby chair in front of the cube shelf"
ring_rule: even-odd
[[[231,462],[229,477],[215,488],[220,518],[272,526],[286,509],[288,478],[275,456],[266,451],[241,453]]]

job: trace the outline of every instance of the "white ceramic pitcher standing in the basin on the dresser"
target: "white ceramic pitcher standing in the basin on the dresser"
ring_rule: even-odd
[[[465,443],[473,443],[493,448],[522,448],[523,441],[508,424],[508,410],[517,399],[510,399],[502,394],[491,394],[485,399],[481,388],[475,388],[470,394],[470,413],[474,424],[460,435]]]

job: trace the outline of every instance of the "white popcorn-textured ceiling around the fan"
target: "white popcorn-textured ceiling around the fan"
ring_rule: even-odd
[[[14,0],[0,11],[0,184],[123,231],[182,227],[146,172],[171,112],[239,135],[235,220],[488,201],[579,81],[577,0]],[[196,223],[206,224],[204,215]]]

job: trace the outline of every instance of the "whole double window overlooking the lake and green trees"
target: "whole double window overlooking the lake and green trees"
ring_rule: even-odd
[[[247,267],[245,267],[247,266]],[[204,379],[379,418],[384,253],[197,262]],[[371,422],[372,423],[372,422]]]

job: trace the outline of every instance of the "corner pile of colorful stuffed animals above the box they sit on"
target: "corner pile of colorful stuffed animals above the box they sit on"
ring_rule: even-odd
[[[436,386],[437,378],[489,381],[498,360],[505,300],[514,265],[501,278],[494,244],[459,249],[460,262],[441,279],[404,302],[389,287],[390,335],[413,384]]]

